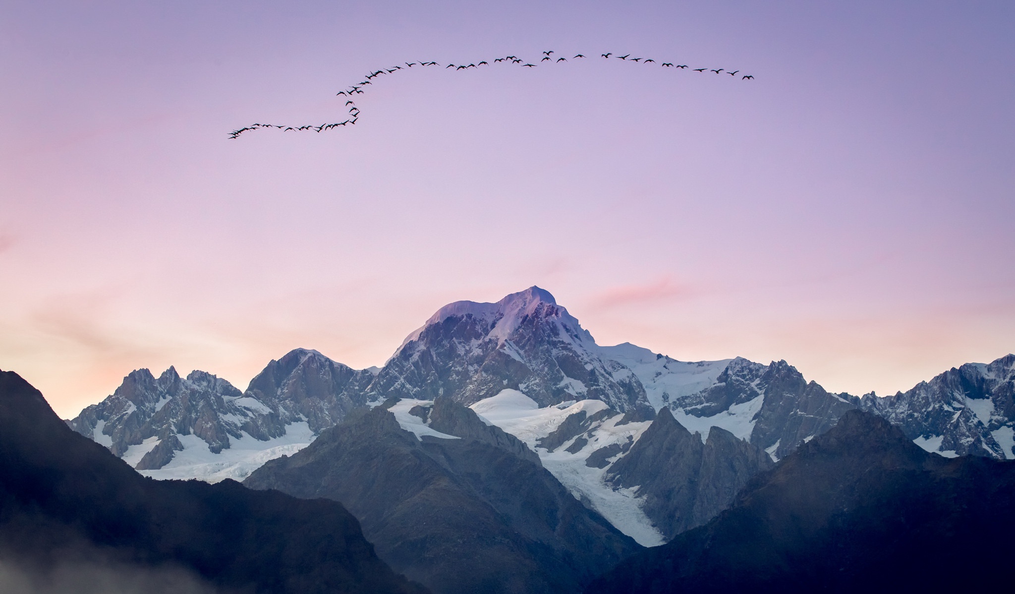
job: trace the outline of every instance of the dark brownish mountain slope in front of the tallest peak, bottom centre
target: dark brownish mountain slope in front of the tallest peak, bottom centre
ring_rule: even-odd
[[[638,548],[450,398],[386,406],[245,484],[342,502],[383,559],[439,593],[577,592]]]

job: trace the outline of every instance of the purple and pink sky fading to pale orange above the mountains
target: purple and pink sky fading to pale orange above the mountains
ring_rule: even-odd
[[[226,139],[543,50],[590,57]],[[1007,0],[0,1],[0,369],[70,416],[538,284],[601,344],[905,390],[1015,350],[1013,59]]]

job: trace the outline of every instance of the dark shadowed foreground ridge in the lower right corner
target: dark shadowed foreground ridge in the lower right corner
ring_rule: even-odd
[[[969,591],[1010,580],[1013,529],[1015,462],[930,454],[853,410],[587,592]]]

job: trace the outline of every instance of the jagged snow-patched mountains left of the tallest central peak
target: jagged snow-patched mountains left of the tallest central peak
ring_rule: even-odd
[[[362,405],[373,379],[302,348],[268,364],[245,393],[205,372],[138,370],[68,424],[148,476],[243,479]]]

